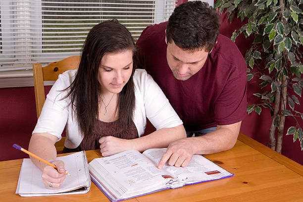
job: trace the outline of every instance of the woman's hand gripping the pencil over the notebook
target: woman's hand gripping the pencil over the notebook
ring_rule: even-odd
[[[52,161],[52,164],[57,166],[58,170],[47,165],[42,171],[42,180],[46,188],[51,190],[59,189],[66,176],[64,169],[64,162],[60,160]]]

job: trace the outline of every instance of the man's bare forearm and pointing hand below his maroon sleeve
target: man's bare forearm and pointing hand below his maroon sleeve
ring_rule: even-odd
[[[217,129],[199,137],[183,138],[169,144],[158,168],[169,165],[185,167],[194,154],[210,154],[229,150],[236,144],[241,121],[230,125],[217,125]]]

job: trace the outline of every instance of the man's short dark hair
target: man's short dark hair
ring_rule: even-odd
[[[166,27],[166,39],[184,50],[206,50],[214,47],[220,28],[216,10],[200,0],[182,3],[174,9]]]

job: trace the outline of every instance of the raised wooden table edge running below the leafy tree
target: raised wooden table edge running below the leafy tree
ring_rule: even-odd
[[[272,158],[278,163],[283,164],[285,167],[293,170],[294,172],[303,176],[303,165],[297,163],[296,161],[276,152],[272,149],[264,146],[263,144],[253,140],[252,138],[244,135],[243,133],[239,133],[238,140],[250,146],[251,148],[257,150],[258,152],[263,153],[264,155]]]

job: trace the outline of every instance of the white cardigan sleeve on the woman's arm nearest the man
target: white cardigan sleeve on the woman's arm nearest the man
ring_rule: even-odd
[[[145,70],[137,70],[140,74],[138,82],[144,100],[144,107],[147,118],[158,130],[161,128],[172,128],[183,124],[169,101]]]

